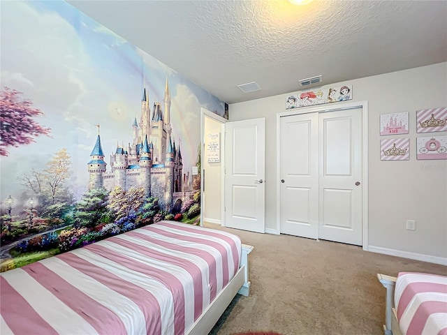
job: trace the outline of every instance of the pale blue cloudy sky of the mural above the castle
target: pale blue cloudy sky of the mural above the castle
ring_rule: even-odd
[[[1,157],[1,200],[10,194],[17,197],[17,177],[44,168],[62,148],[68,149],[73,163],[73,190],[77,196],[83,193],[97,135],[94,125],[101,124],[109,163],[117,142],[131,142],[133,119],[140,121],[143,86],[152,109],[154,101],[163,101],[166,76],[173,140],[181,144],[185,169],[196,163],[200,107],[224,113],[219,98],[64,1],[3,1],[0,61],[1,86],[23,92],[23,98],[45,114],[36,121],[52,128],[51,137],[8,147],[9,156]]]

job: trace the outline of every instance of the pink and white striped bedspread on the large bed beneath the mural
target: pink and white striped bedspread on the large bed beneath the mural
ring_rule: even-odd
[[[185,334],[240,264],[239,237],[161,221],[3,272],[5,334]]]

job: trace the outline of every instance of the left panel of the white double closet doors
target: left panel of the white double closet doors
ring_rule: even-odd
[[[318,239],[318,113],[281,117],[280,123],[280,230]]]

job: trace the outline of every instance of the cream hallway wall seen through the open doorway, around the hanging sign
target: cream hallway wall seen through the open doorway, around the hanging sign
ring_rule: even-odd
[[[205,170],[205,192],[203,221],[210,223],[221,223],[221,162],[208,163],[207,145],[208,134],[221,134],[221,123],[210,117],[204,117],[204,135],[203,140],[205,149],[203,151],[203,169]]]

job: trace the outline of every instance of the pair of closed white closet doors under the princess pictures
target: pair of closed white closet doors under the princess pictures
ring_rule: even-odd
[[[362,108],[281,117],[280,131],[280,232],[362,245]]]

